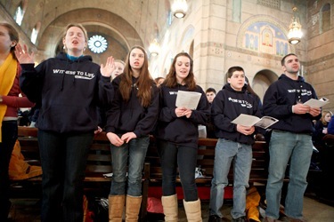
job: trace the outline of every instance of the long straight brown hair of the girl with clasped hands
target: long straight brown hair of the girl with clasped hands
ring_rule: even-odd
[[[147,53],[145,52],[142,46],[134,45],[134,47],[132,47],[131,50],[127,53],[124,73],[123,75],[120,75],[119,91],[124,100],[128,101],[130,99],[130,94],[133,86],[132,68],[130,66],[130,56],[131,52],[134,49],[140,49],[144,54],[143,67],[141,68],[141,72],[139,74],[137,83],[135,83],[135,87],[138,89],[137,97],[141,100],[141,104],[143,107],[149,107],[151,104],[151,97],[152,97],[151,87],[154,81],[150,75]]]

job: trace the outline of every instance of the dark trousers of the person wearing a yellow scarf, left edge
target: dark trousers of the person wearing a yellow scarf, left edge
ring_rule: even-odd
[[[12,148],[18,138],[17,121],[4,121],[2,142],[0,143],[0,221],[6,221],[11,207],[9,202],[8,166],[11,161]]]

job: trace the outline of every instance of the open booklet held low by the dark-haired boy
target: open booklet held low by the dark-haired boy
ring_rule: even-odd
[[[277,123],[278,119],[275,119],[271,116],[263,116],[261,119],[255,115],[245,115],[240,114],[237,118],[235,118],[231,123],[240,124],[243,126],[258,126],[264,129],[267,129],[269,126],[273,125],[273,123]]]

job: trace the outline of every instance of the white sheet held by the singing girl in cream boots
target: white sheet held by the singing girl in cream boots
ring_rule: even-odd
[[[201,93],[197,91],[177,91],[175,106],[196,109],[200,102]]]

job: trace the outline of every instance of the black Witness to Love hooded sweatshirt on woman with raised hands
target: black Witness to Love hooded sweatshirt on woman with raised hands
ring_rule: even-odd
[[[41,104],[38,129],[60,133],[97,129],[96,107],[111,103],[113,88],[91,56],[70,60],[60,53],[36,68],[34,64],[21,67],[21,90]]]

